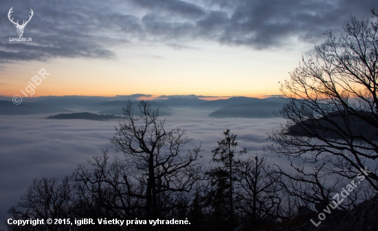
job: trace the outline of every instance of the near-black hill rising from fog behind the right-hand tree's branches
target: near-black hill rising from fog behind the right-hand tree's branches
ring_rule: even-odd
[[[365,118],[375,121],[371,112],[360,111]],[[355,115],[348,115],[340,111],[329,113],[318,119],[309,119],[289,127],[287,135],[326,137],[340,139],[353,136],[354,140],[365,137],[368,140],[378,140],[378,129]]]

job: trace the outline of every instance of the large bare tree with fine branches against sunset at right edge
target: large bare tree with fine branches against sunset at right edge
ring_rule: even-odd
[[[267,151],[322,166],[322,175],[352,179],[366,166],[378,190],[378,14],[329,30],[280,87],[287,124],[269,135]],[[301,173],[302,174],[302,173]],[[315,178],[313,178],[315,179]],[[323,187],[323,186],[322,186]]]

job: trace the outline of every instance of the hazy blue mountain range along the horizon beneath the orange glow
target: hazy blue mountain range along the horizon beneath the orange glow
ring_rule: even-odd
[[[164,96],[165,97],[165,96]],[[166,96],[168,99],[155,99],[149,101],[152,109],[157,109],[155,105],[160,107],[160,115],[170,115],[173,113],[173,109],[169,107],[194,107],[194,109],[207,109],[216,110],[226,107],[230,104],[250,104],[255,102],[285,102],[284,99],[278,97],[271,97],[265,99],[249,98],[249,97],[232,97],[227,100],[201,100],[195,95],[190,96]],[[71,111],[89,111],[93,113],[111,113],[122,115],[122,107],[126,104],[131,96],[115,96],[115,97],[103,97],[103,96],[40,96],[36,98],[23,98],[22,105],[30,105],[35,107],[41,107],[36,111],[25,111],[21,107],[14,108],[14,110],[8,109],[7,112],[3,111],[0,114],[17,114],[27,115],[34,113],[54,113],[54,112],[69,112]],[[1,96],[0,100],[10,102],[12,98]],[[139,100],[131,100],[137,102]],[[19,105],[16,105],[19,106]],[[8,106],[7,106],[8,107]],[[25,106],[26,107],[26,106]],[[47,110],[46,108],[50,108]],[[51,108],[55,108],[55,111]],[[56,111],[58,109],[58,111]],[[61,111],[61,110],[66,111]],[[60,111],[59,111],[60,110]],[[108,111],[109,110],[109,111]],[[38,111],[38,112],[37,112]]]

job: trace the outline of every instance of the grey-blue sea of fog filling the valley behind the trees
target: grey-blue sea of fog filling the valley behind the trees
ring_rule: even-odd
[[[210,118],[208,113],[175,109],[174,115],[166,117],[166,129],[180,126],[194,138],[186,149],[201,143],[205,164],[210,162],[211,150],[216,141],[223,139],[226,129],[237,135],[236,150],[247,149],[247,154],[241,157],[246,158],[263,154],[267,133],[285,123],[280,118]],[[7,210],[16,206],[32,179],[71,175],[78,164],[101,155],[102,149],[108,149],[111,155],[123,155],[116,153],[109,142],[118,121],[46,120],[46,116],[0,115],[0,221],[8,217]],[[265,155],[281,162],[274,154]]]

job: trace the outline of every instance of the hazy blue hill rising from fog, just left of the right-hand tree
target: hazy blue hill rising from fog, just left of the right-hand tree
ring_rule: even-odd
[[[271,118],[273,111],[278,111],[282,102],[255,102],[252,104],[229,105],[210,113],[208,116],[216,118]]]

